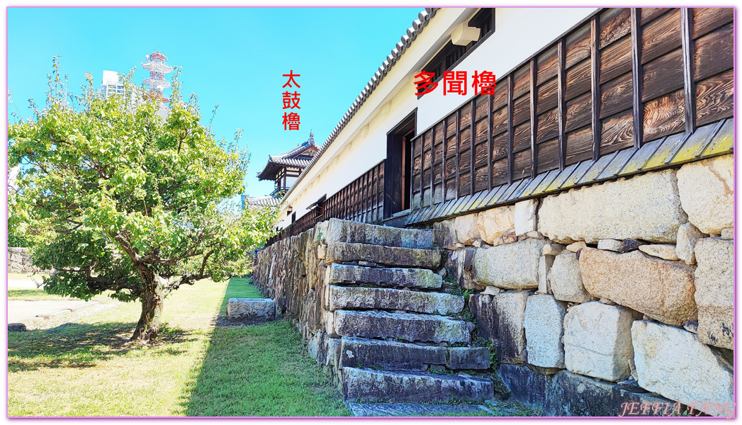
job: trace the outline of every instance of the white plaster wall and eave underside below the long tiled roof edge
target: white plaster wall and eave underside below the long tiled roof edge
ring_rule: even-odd
[[[443,96],[442,85],[421,99],[415,96],[414,77],[450,39],[451,31],[467,21],[477,8],[443,8],[430,20],[401,59],[387,73],[364,105],[306,176],[291,191],[281,208],[280,228],[291,224],[289,205],[297,220],[323,195],[331,197],[387,156],[387,132],[417,110],[418,132],[455,111],[467,96]],[[548,43],[573,27],[594,8],[497,8],[495,32],[471,51],[454,70],[489,70],[505,75]],[[400,35],[403,30],[400,31]],[[471,77],[469,77],[471,78]],[[471,80],[469,80],[469,84]],[[471,90],[471,88],[469,88]]]

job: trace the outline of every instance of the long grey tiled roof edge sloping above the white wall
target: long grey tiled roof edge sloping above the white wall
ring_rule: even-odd
[[[378,86],[381,80],[384,79],[384,76],[387,76],[389,70],[392,69],[395,63],[397,63],[397,61],[399,60],[399,58],[401,58],[402,54],[407,50],[407,48],[412,45],[412,42],[415,41],[418,34],[421,33],[427,23],[430,22],[430,19],[432,19],[433,16],[436,16],[436,12],[438,10],[439,7],[425,7],[425,10],[418,13],[418,19],[413,21],[413,26],[407,28],[407,33],[405,33],[404,36],[401,37],[401,41],[397,43],[397,45],[392,49],[390,55],[387,56],[387,59],[381,64],[380,67],[378,67],[378,70],[376,71],[374,76],[371,77],[371,81],[368,82],[364,90],[361,90],[361,94],[359,94],[358,98],[355,99],[355,102],[350,105],[348,111],[345,113],[338,125],[335,126],[335,130],[333,130],[332,133],[329,134],[320,151],[315,155],[314,158],[312,158],[312,161],[309,162],[309,166],[304,168],[301,174],[299,174],[298,179],[296,179],[296,182],[294,182],[292,187],[289,188],[289,191],[286,192],[286,195],[283,196],[283,199],[286,199],[286,197],[288,197],[289,194],[292,193],[294,188],[298,186],[299,182],[301,182],[306,173],[309,172],[310,169],[312,169],[312,166],[315,165],[322,154],[324,154],[327,148],[329,148],[329,145],[332,145],[332,142],[335,141],[335,138],[338,136],[338,134],[343,131],[343,128],[345,128],[345,126],[355,115],[355,113],[358,112],[358,109],[361,108],[361,105],[366,102],[366,99],[368,99],[372,91],[376,88],[376,86]]]

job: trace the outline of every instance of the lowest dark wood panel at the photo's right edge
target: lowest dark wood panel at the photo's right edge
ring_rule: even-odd
[[[696,85],[696,122],[709,124],[734,116],[734,70],[712,76]]]

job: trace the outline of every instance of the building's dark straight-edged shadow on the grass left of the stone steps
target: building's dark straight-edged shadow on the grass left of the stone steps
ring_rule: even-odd
[[[232,278],[231,297],[260,297],[249,280]],[[217,326],[195,379],[181,402],[187,416],[347,416],[329,375],[306,355],[289,322]]]

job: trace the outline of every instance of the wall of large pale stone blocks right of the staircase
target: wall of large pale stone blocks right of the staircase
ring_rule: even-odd
[[[733,188],[726,155],[436,223],[513,396],[554,415],[727,415]]]

